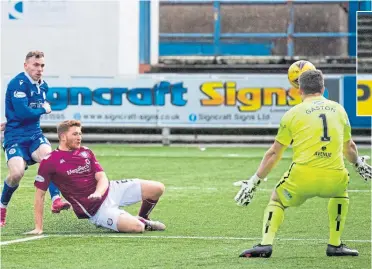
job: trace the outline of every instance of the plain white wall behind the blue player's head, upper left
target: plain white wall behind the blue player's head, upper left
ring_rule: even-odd
[[[138,74],[139,0],[23,1],[22,13],[14,8],[17,2],[0,3],[1,120],[6,84],[23,71],[30,50],[45,53],[46,80]]]

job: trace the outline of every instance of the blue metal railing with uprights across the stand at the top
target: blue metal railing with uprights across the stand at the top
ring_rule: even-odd
[[[188,38],[192,40],[210,38],[213,39],[214,55],[220,55],[221,39],[226,38],[239,38],[239,39],[248,39],[248,38],[264,38],[264,39],[274,39],[274,38],[286,38],[287,39],[287,56],[294,55],[294,39],[295,38],[306,38],[306,37],[329,37],[329,38],[349,38],[349,55],[355,56],[355,27],[350,27],[352,23],[349,23],[349,32],[295,32],[294,30],[294,5],[297,3],[301,4],[325,4],[325,3],[343,3],[349,1],[304,1],[304,0],[294,0],[294,1],[282,1],[282,0],[272,0],[272,1],[200,1],[200,0],[168,0],[163,1],[164,3],[172,4],[195,4],[195,3],[210,3],[213,4],[214,12],[214,31],[212,33],[160,33],[160,38]],[[221,4],[246,4],[246,5],[288,5],[289,8],[289,18],[287,24],[286,32],[277,32],[277,33],[221,33]],[[354,8],[351,8],[351,5],[354,5]],[[371,9],[371,1],[351,1],[349,2],[350,13],[355,13],[355,5],[357,10]],[[349,20],[352,17],[355,24],[356,14],[349,13]],[[350,29],[351,28],[351,29]],[[352,48],[350,48],[350,44]]]

